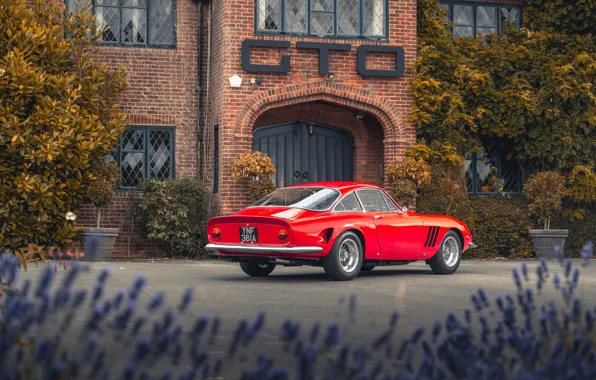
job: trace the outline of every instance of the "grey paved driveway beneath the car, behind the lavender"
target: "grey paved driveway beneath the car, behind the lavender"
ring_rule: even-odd
[[[579,262],[576,262],[579,263]],[[531,283],[535,283],[537,262],[528,262]],[[92,263],[91,273],[83,274],[77,286],[92,289],[95,276],[106,265],[112,275],[108,280],[108,295],[117,288],[127,288],[141,273],[148,279],[142,300],[146,302],[158,291],[166,292],[167,302],[175,306],[182,291],[189,285],[195,288],[194,301],[181,317],[190,329],[199,315],[222,318],[221,342],[228,342],[242,318],[254,318],[266,311],[266,328],[261,339],[253,346],[275,355],[280,350],[277,336],[286,317],[310,326],[315,322],[338,321],[347,329],[343,336],[352,342],[367,343],[387,326],[392,309],[401,314],[398,332],[408,336],[419,325],[432,326],[443,319],[448,311],[463,315],[471,307],[470,295],[483,287],[491,298],[513,292],[512,269],[515,261],[465,261],[451,276],[431,273],[423,263],[402,267],[375,268],[362,273],[356,280],[334,282],[326,278],[322,268],[276,268],[267,278],[246,276],[238,264],[221,262],[112,262]],[[560,271],[558,263],[550,264],[551,271]],[[36,281],[40,268],[30,266],[23,276]],[[59,276],[64,273],[59,272]],[[581,292],[585,300],[596,299],[596,263],[582,272]],[[552,289],[549,284],[547,289]],[[347,299],[356,295],[356,320],[350,322]],[[547,298],[559,300],[554,291]],[[341,304],[342,298],[344,299]],[[213,349],[223,355],[225,344]],[[237,367],[229,368],[225,378],[239,378]]]

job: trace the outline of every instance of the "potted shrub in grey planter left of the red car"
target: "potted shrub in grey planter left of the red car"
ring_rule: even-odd
[[[115,163],[102,162],[97,165],[93,174],[95,181],[87,189],[87,201],[95,206],[95,227],[83,227],[81,243],[84,260],[108,261],[112,258],[112,251],[119,228],[101,227],[101,209],[112,202],[114,191],[118,187],[120,169]]]

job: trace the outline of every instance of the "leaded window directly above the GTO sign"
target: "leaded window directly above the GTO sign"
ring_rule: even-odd
[[[386,37],[387,0],[256,0],[256,31]]]

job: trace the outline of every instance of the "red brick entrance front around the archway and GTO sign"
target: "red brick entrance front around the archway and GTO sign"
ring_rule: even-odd
[[[211,76],[212,88],[210,120],[207,127],[220,126],[220,192],[213,197],[214,208],[220,213],[230,213],[247,203],[247,197],[232,179],[231,162],[240,153],[249,151],[252,146],[252,129],[259,117],[269,110],[309,101],[327,101],[352,109],[366,111],[377,119],[372,125],[361,125],[365,130],[374,130],[381,125],[383,136],[375,136],[384,143],[384,159],[392,161],[403,154],[403,150],[415,141],[414,126],[407,122],[412,105],[408,88],[416,54],[416,0],[389,2],[389,39],[385,42],[372,42],[352,39],[322,39],[297,37],[261,37],[254,35],[254,0],[221,0],[213,2],[214,23],[220,28],[212,30],[212,38],[220,44],[214,47],[219,54],[221,71]],[[217,9],[217,12],[215,12]],[[217,20],[217,21],[215,21]],[[292,58],[292,71],[289,74],[244,73],[241,67],[242,41],[249,38],[291,41],[292,47],[283,51],[275,49],[255,49],[253,63],[279,63],[282,55]],[[349,52],[332,52],[330,72],[334,79],[318,73],[318,53],[298,50],[297,41],[350,43]],[[401,78],[363,79],[356,71],[356,49],[362,44],[401,46],[405,50],[406,72]],[[215,51],[212,52],[216,54]],[[387,55],[371,55],[369,68],[388,69],[392,60]],[[219,69],[219,67],[218,67]],[[227,80],[238,74],[243,78],[240,88],[231,88]],[[261,86],[252,85],[251,78],[260,75]],[[215,84],[215,81],[219,83]],[[223,112],[221,110],[223,109]],[[345,117],[345,116],[342,116]],[[376,125],[375,125],[376,123]],[[212,135],[204,141],[207,150],[207,173],[212,174]],[[372,144],[368,143],[367,144]],[[374,145],[374,144],[373,144]],[[373,162],[380,154],[367,152],[362,148],[357,160]],[[366,164],[363,164],[366,165]],[[362,165],[360,165],[362,170]],[[358,172],[358,165],[356,165]],[[379,169],[376,169],[378,172]]]

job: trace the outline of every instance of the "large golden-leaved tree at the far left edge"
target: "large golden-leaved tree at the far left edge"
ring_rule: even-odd
[[[0,0],[0,246],[65,245],[114,149],[124,70],[93,59],[93,16],[62,1]]]

